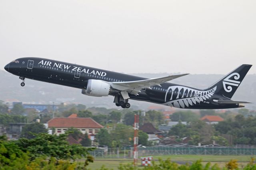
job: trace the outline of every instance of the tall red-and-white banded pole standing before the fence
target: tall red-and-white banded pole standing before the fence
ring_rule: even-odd
[[[133,148],[133,165],[137,165],[137,159],[138,159],[138,144],[139,144],[139,137],[138,137],[138,131],[139,131],[139,112],[138,114],[134,114],[134,148]]]

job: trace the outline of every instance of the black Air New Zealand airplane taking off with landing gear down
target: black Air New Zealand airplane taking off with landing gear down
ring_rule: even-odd
[[[231,98],[252,65],[243,64],[207,89],[196,89],[168,83],[188,74],[160,78],[144,78],[103,69],[55,61],[23,57],[8,63],[4,69],[22,80],[25,78],[82,89],[82,94],[114,96],[116,106],[129,108],[129,99],[158,103],[183,109],[229,109],[244,107],[244,101]]]

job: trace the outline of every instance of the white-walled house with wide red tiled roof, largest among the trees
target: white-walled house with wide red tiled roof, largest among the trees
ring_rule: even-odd
[[[48,128],[55,128],[54,134],[63,134],[68,128],[77,128],[83,134],[97,134],[103,128],[91,118],[70,118],[70,117],[55,117],[48,121]]]

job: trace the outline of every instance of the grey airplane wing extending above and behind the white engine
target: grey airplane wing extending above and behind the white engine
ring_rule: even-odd
[[[165,83],[167,81],[176,79],[178,77],[182,77],[188,74],[181,74],[181,75],[169,75],[166,77],[160,78],[153,78],[153,79],[146,79],[146,80],[139,80],[139,81],[124,81],[124,82],[111,82],[112,88],[121,91],[126,91],[127,93],[137,95],[141,89],[151,89],[151,86],[158,85],[161,87],[160,84]],[[124,93],[122,93],[123,95]]]

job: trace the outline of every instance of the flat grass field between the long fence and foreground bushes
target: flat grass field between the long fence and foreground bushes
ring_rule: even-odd
[[[203,164],[207,162],[212,162],[212,164],[218,163],[220,167],[225,166],[226,162],[229,162],[231,159],[238,160],[240,166],[250,162],[252,156],[250,155],[161,155],[154,156],[153,160],[157,163],[158,158],[163,160],[170,158],[172,161],[181,161],[181,162],[195,162],[196,160],[202,159]],[[119,164],[128,164],[132,163],[132,159],[123,159],[123,158],[95,158],[94,162],[89,164],[88,168],[91,170],[100,169],[102,165],[105,165],[106,168],[117,170]],[[140,162],[138,162],[140,165]]]

